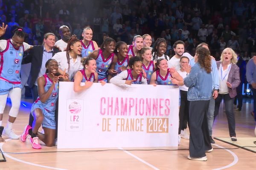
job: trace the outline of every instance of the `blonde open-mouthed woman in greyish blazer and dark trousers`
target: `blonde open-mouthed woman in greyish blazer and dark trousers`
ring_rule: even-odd
[[[233,111],[236,88],[240,84],[239,67],[236,65],[237,55],[231,48],[225,48],[221,54],[221,60],[217,61],[219,73],[219,92],[215,99],[214,119],[219,113],[221,100],[224,99],[228,129],[232,141],[236,141],[236,122]]]

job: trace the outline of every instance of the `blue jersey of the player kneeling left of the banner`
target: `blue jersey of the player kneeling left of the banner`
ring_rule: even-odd
[[[44,74],[45,85],[44,91],[47,92],[49,88],[52,86],[52,80],[48,77],[47,74]],[[46,102],[41,102],[40,97],[36,99],[33,105],[42,105],[47,112],[54,112],[56,110],[56,102],[58,99],[58,82],[55,84],[54,89],[52,90],[52,94],[46,100]]]

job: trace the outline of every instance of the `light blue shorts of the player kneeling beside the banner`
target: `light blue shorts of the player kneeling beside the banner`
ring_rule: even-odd
[[[47,127],[49,129],[56,129],[56,122],[55,122],[55,111],[48,112],[44,109],[44,107],[41,104],[33,103],[31,107],[31,114],[33,115],[33,111],[39,108],[44,114],[44,120],[42,122],[42,127]],[[33,115],[34,116],[34,115]]]

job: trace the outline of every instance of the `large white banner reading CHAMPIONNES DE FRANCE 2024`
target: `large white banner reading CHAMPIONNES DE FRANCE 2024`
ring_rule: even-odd
[[[177,147],[178,100],[177,86],[60,82],[58,148]]]

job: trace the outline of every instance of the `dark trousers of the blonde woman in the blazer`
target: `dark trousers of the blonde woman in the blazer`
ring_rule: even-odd
[[[221,100],[224,100],[225,110],[227,115],[228,129],[230,137],[236,136],[236,121],[233,109],[234,98],[231,98],[229,94],[218,94],[217,99],[215,99],[215,109],[214,109],[214,119],[219,113],[219,108],[221,105]]]

